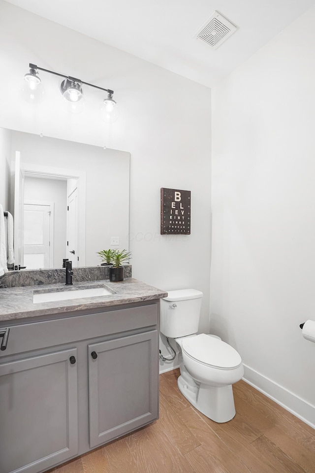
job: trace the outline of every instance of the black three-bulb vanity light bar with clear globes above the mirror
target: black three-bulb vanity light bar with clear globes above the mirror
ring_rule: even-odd
[[[50,74],[58,75],[63,77],[63,81],[60,84],[60,91],[63,95],[63,98],[66,101],[75,104],[80,101],[81,104],[84,102],[82,84],[88,85],[89,87],[94,87],[95,89],[102,90],[107,92],[107,98],[103,99],[101,104],[101,116],[102,119],[106,122],[114,122],[118,118],[118,107],[116,101],[113,99],[114,91],[111,89],[104,89],[97,85],[89,84],[84,82],[81,79],[71,77],[66,74],[60,74],[59,72],[54,72],[49,69],[44,69],[36,66],[35,64],[30,63],[30,72],[24,76],[24,86],[23,86],[23,96],[24,98],[32,103],[37,102],[43,95],[43,89],[41,84],[41,79],[38,76],[38,71],[42,70],[44,72],[49,72]],[[74,111],[74,108],[72,108]]]

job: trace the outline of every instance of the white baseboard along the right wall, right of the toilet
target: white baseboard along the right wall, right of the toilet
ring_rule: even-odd
[[[244,365],[243,380],[315,429],[315,405]]]

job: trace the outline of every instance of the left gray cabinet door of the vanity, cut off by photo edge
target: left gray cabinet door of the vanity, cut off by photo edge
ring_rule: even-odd
[[[78,453],[76,348],[0,364],[0,472],[35,473]]]

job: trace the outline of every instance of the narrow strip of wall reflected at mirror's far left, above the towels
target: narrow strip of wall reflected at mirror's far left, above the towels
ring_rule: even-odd
[[[3,210],[9,210],[10,160],[10,132],[0,128],[0,204]]]

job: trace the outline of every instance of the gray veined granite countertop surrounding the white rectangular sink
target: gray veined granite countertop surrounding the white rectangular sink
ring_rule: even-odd
[[[32,302],[34,293],[59,292],[64,290],[75,291],[87,287],[105,287],[110,292],[113,292],[113,294],[36,304]],[[59,283],[1,288],[0,322],[55,313],[76,312],[111,305],[150,301],[166,296],[167,292],[149,286],[134,278],[127,278],[122,282],[110,282],[108,279],[73,282],[73,286],[65,286],[64,283]]]

